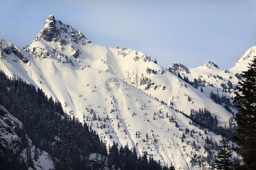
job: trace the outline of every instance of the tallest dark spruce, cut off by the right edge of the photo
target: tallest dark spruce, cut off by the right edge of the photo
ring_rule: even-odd
[[[256,57],[249,64],[248,70],[242,72],[243,80],[238,82],[234,102],[239,113],[235,115],[237,128],[233,139],[240,148],[235,152],[241,156],[240,165],[236,169],[256,169]]]

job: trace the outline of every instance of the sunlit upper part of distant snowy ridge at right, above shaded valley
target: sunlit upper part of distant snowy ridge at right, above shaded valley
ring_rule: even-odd
[[[256,56],[256,46],[251,47],[247,50],[235,63],[235,66],[228,70],[221,70],[217,64],[207,61],[202,66],[197,68],[188,68],[180,63],[173,63],[169,67],[169,71],[173,72],[175,75],[180,74],[183,78],[188,77],[190,81],[200,78],[203,81],[199,86],[210,86],[222,88],[221,83],[227,83],[230,80],[233,84],[233,88],[237,85],[238,80],[241,79],[239,74],[242,71],[247,70],[248,63],[251,62],[252,58]]]

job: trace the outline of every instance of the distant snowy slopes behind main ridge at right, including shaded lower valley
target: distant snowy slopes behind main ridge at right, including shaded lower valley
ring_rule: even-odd
[[[223,98],[223,101],[214,100],[217,103],[223,103],[224,100],[229,99],[229,103],[232,106],[226,107],[227,105],[222,105],[224,105],[229,112],[236,113],[235,104],[232,103],[235,87],[242,78],[240,75],[242,71],[247,70],[247,66],[249,66],[248,63],[256,56],[255,50],[256,46],[251,47],[237,60],[235,66],[228,70],[221,70],[217,64],[207,61],[197,68],[188,68],[180,63],[173,63],[168,68],[168,71],[180,76],[183,80],[190,82],[190,84],[195,87],[202,87],[204,93],[211,98],[213,98],[211,93],[218,94],[220,97],[226,96]]]

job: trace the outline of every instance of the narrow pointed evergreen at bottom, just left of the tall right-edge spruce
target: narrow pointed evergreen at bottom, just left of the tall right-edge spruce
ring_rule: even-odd
[[[220,152],[216,156],[219,160],[216,159],[214,161],[214,164],[216,165],[216,169],[232,170],[232,162],[230,162],[230,158],[232,157],[232,151],[228,151],[228,148],[230,146],[228,145],[228,140],[225,136],[226,134],[224,134],[224,129],[222,129],[221,140],[219,141],[221,143],[221,145],[219,146]]]

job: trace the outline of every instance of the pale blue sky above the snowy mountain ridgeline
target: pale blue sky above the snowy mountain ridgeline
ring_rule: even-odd
[[[141,51],[164,68],[212,61],[229,69],[256,45],[255,1],[8,0],[0,9],[0,38],[19,47],[54,15],[98,45]]]

